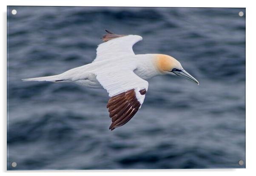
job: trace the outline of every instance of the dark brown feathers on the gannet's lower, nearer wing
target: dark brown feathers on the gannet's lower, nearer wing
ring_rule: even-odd
[[[146,93],[145,89],[141,91]],[[113,130],[126,124],[137,113],[140,105],[134,89],[112,96],[107,104],[109,117],[112,118],[109,129]]]

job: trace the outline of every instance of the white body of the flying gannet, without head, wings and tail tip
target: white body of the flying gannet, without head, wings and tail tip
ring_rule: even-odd
[[[125,68],[134,71],[143,80],[148,80],[161,72],[156,67],[156,54],[135,55],[127,60],[126,58],[102,60],[80,66],[74,69],[65,71],[62,74],[56,75],[54,81],[57,82],[74,82],[85,86],[86,88],[102,88],[102,85],[97,80],[96,75],[99,73],[108,74],[115,71],[120,71]],[[108,69],[106,69],[108,68]],[[118,76],[118,75],[117,75]],[[53,77],[51,77],[52,79]]]

